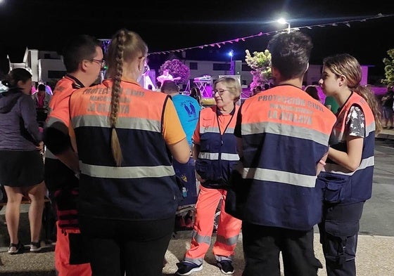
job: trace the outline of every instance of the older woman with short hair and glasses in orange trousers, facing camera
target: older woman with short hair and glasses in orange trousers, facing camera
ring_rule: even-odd
[[[231,77],[223,77],[213,84],[216,105],[201,110],[193,134],[193,158],[196,160],[196,178],[201,183],[196,204],[196,221],[191,246],[178,264],[177,275],[190,275],[203,269],[204,256],[210,247],[214,218],[220,204],[220,221],[213,254],[224,274],[232,274],[232,256],[241,221],[224,211],[230,173],[239,155],[236,151],[234,126],[241,95],[241,84]]]

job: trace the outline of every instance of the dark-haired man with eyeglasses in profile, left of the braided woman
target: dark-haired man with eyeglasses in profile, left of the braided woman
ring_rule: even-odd
[[[45,183],[58,216],[55,268],[58,276],[91,276],[77,221],[78,178],[75,168],[68,168],[55,155],[64,150],[59,147],[61,142],[66,141],[70,145],[71,94],[77,88],[91,86],[105,66],[100,41],[88,35],[73,37],[65,46],[63,61],[67,74],[58,81],[53,91],[44,131],[48,149],[45,155]]]

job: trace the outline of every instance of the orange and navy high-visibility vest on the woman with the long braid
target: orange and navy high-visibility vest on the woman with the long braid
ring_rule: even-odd
[[[163,138],[170,97],[122,81],[116,131],[123,159],[116,166],[108,119],[112,86],[113,80],[106,79],[70,98],[80,158],[80,215],[129,221],[171,218],[182,195]]]

